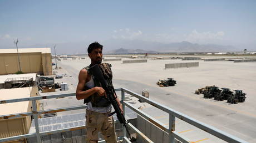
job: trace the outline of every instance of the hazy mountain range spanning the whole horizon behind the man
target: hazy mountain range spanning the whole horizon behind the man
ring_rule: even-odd
[[[67,42],[56,43],[57,54],[87,54],[87,47],[91,42]],[[244,48],[232,45],[197,44],[190,42],[160,43],[145,40],[108,39],[99,41],[104,45],[103,53],[164,53],[164,52],[242,52]],[[55,44],[37,44],[31,46],[19,46],[19,48],[51,47],[54,53]],[[1,48],[1,45],[0,45]],[[7,48],[7,46],[3,46]],[[10,47],[11,48],[11,47]],[[16,47],[13,47],[16,48]],[[250,49],[256,50],[256,49]]]

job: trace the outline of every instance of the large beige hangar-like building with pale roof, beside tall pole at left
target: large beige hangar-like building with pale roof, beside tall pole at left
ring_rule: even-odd
[[[52,75],[51,48],[18,49],[21,71]],[[0,49],[0,75],[19,70],[17,49]]]

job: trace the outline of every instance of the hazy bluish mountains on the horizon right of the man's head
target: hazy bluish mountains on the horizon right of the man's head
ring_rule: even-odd
[[[116,48],[124,46],[125,48]],[[233,52],[240,49],[231,45],[216,44],[193,44],[190,42],[177,42],[170,44],[162,44],[157,42],[147,43],[145,41],[122,41],[118,45],[111,46],[112,49],[106,53],[124,54],[124,53],[159,53],[159,52]],[[140,49],[132,49],[132,47],[142,47]]]

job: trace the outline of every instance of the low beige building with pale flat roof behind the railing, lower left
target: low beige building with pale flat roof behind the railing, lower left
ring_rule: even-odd
[[[0,89],[1,100],[29,98],[37,96],[37,87]],[[37,102],[37,108],[38,108]],[[17,103],[0,104],[0,115],[26,113],[32,111],[32,102],[23,101]],[[13,119],[0,119],[0,139],[17,135],[28,134],[31,126],[31,116],[24,116]],[[12,142],[26,142],[24,139]]]

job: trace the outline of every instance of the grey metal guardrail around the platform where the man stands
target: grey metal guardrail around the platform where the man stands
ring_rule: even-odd
[[[161,105],[151,99],[145,98],[144,96],[134,93],[131,90],[125,89],[125,88],[119,88],[115,89],[116,91],[121,91],[121,99],[122,99],[122,106],[123,109],[125,109],[125,106],[129,107],[131,110],[134,110],[137,114],[141,115],[144,117],[146,120],[150,121],[152,124],[156,125],[160,129],[164,130],[169,134],[169,142],[174,142],[174,139],[178,139],[181,142],[190,142],[189,139],[186,139],[185,136],[180,135],[178,132],[175,131],[175,118],[179,118],[185,122],[188,122],[191,125],[194,125],[198,127],[201,130],[204,130],[208,132],[211,135],[214,135],[216,137],[219,137],[219,139],[222,139],[227,142],[246,142],[242,139],[239,139],[238,137],[235,137],[233,135],[227,134],[224,131],[221,131],[219,129],[216,129],[213,126],[206,125],[203,122],[200,122],[198,120],[195,120],[185,114],[179,113],[178,111],[175,111],[168,106]],[[156,119],[152,118],[152,116],[147,115],[146,113],[142,112],[141,110],[138,110],[131,106],[129,103],[125,101],[125,93],[130,94],[132,96],[135,96],[136,98],[139,98],[146,103],[149,103],[152,106],[155,106],[156,108],[165,111],[166,113],[169,114],[169,128],[167,128],[163,123],[157,121]],[[51,110],[41,110],[37,111],[37,105],[36,105],[36,100],[43,100],[43,99],[52,99],[52,98],[63,98],[67,96],[75,96],[75,93],[70,93],[70,94],[58,94],[58,95],[50,95],[50,96],[36,96],[36,97],[31,97],[31,98],[21,98],[21,99],[10,99],[10,100],[0,100],[0,104],[6,104],[6,103],[16,103],[16,102],[21,102],[21,101],[32,101],[32,112],[27,112],[27,113],[19,113],[19,114],[10,114],[10,115],[1,115],[0,119],[11,119],[11,118],[18,118],[22,116],[29,116],[33,115],[35,119],[35,127],[36,127],[36,133],[32,134],[25,134],[25,135],[19,135],[19,136],[12,136],[12,137],[6,137],[0,139],[0,142],[6,142],[6,141],[12,141],[12,140],[19,140],[19,139],[25,139],[29,137],[37,137],[37,142],[41,142],[41,137],[42,135],[49,135],[49,134],[55,134],[57,132],[64,132],[64,131],[72,131],[72,130],[78,130],[78,129],[84,129],[85,126],[78,126],[78,127],[73,127],[73,128],[67,128],[67,129],[60,129],[60,130],[53,130],[53,131],[47,131],[47,132],[39,132],[39,127],[38,127],[38,115],[40,114],[45,114],[45,113],[53,113],[53,112],[60,112],[60,111],[68,111],[68,110],[77,110],[77,109],[84,109],[86,108],[85,105],[81,106],[72,106],[72,107],[67,107],[67,108],[57,108],[57,109],[51,109]],[[125,110],[124,110],[125,114]],[[140,132],[136,127],[131,125],[130,123],[128,124],[131,130],[137,132],[142,139],[145,142],[152,142],[148,137],[146,137],[142,132]],[[126,142],[130,142],[127,137],[126,137],[126,130],[123,127],[123,139],[126,140]]]

